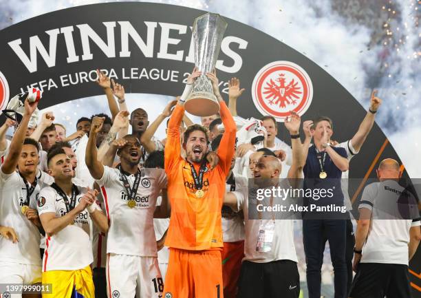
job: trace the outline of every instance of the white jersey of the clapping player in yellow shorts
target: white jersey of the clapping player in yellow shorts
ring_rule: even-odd
[[[79,194],[76,196],[76,206],[80,202],[85,187],[76,185]],[[67,196],[70,202],[71,196]],[[94,203],[96,209],[100,210]],[[39,215],[55,213],[56,217],[67,213],[66,204],[61,195],[52,187],[45,187],[39,193],[37,201]],[[43,257],[43,272],[51,270],[78,270],[93,262],[92,246],[89,238],[90,217],[87,209],[74,218],[74,224],[69,224],[63,230],[45,237],[45,251]]]

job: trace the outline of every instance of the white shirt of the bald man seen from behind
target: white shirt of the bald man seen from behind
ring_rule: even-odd
[[[420,226],[420,213],[415,199],[407,206],[397,203],[403,190],[394,180],[374,182],[365,187],[358,209],[371,210],[371,227],[361,263],[408,265],[409,229]],[[402,211],[406,213],[404,217]]]

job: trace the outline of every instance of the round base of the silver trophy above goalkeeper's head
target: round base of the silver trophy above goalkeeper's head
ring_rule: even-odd
[[[213,97],[213,98],[212,98]],[[213,94],[192,94],[184,104],[188,113],[195,116],[212,116],[219,113],[219,103]]]

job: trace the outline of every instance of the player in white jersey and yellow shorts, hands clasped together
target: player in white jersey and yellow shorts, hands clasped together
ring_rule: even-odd
[[[105,232],[107,217],[94,202],[97,191],[72,182],[72,162],[63,148],[48,153],[48,171],[54,183],[41,190],[37,205],[47,233],[42,280],[52,284],[53,290],[43,296],[94,297],[89,221]]]

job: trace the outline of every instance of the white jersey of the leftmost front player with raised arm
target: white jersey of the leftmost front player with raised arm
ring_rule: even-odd
[[[50,178],[43,172],[37,174],[38,183],[30,195],[29,207],[36,210],[36,198],[41,187]],[[17,233],[19,242],[0,237],[0,262],[41,265],[39,229],[23,215],[21,208],[26,200],[26,185],[17,171],[5,174],[0,170],[0,226],[10,226]]]

